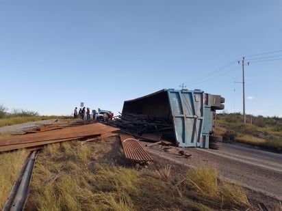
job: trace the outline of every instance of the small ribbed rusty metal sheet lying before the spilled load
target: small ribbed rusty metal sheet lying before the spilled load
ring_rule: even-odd
[[[153,161],[153,158],[143,149],[138,140],[131,135],[120,134],[120,141],[123,145],[125,158],[136,163],[146,163]]]

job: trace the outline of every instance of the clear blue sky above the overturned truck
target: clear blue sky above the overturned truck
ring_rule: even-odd
[[[242,113],[245,56],[246,113],[282,117],[281,11],[281,0],[0,0],[0,105],[116,115],[183,83]]]

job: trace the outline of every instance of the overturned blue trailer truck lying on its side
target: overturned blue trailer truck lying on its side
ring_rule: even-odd
[[[224,102],[225,98],[200,89],[162,89],[125,101],[122,114],[166,119],[173,130],[169,141],[179,147],[217,149],[222,137],[214,136],[214,117],[216,110],[224,109]]]

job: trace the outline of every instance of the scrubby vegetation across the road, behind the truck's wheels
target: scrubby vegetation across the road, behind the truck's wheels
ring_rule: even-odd
[[[246,124],[242,118],[240,113],[216,115],[216,135],[229,143],[237,141],[282,152],[282,118],[246,115]]]

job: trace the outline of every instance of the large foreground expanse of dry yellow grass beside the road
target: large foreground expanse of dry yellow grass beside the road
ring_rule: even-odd
[[[118,143],[112,137],[112,141],[48,145],[36,161],[25,210],[252,208],[240,186],[219,182],[214,166],[189,171],[154,163],[136,167],[123,158]]]

